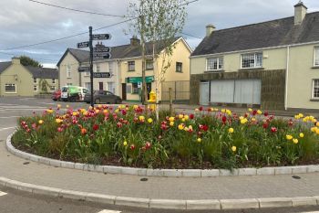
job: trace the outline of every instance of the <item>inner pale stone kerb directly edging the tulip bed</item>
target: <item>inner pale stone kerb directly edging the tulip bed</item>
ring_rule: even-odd
[[[6,139],[7,150],[18,157],[34,161],[45,165],[54,165],[63,168],[78,169],[91,172],[121,174],[130,176],[168,176],[168,177],[214,177],[214,176],[277,176],[277,175],[297,175],[303,173],[319,172],[319,165],[297,165],[262,168],[239,168],[232,171],[226,169],[146,169],[132,168],[113,165],[87,165],[73,162],[59,161],[35,154],[28,154],[15,149],[11,144],[14,133]]]

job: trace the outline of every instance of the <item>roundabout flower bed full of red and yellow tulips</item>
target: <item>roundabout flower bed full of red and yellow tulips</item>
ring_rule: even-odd
[[[237,168],[319,163],[319,122],[202,107],[169,116],[141,106],[46,110],[18,120],[20,150],[96,165],[149,168]]]

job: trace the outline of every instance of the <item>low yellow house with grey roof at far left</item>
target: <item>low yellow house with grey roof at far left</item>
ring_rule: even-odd
[[[0,62],[0,96],[35,96],[42,92],[44,81],[48,92],[56,91],[57,75],[57,69],[23,66],[19,58]]]

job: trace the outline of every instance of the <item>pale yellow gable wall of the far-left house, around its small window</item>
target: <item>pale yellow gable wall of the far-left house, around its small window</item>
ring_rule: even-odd
[[[20,63],[13,64],[0,75],[1,96],[33,96],[33,77]],[[5,93],[5,84],[15,84],[15,93]]]

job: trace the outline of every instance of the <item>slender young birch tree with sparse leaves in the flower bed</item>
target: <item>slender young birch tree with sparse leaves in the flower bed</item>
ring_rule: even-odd
[[[188,0],[138,0],[138,3],[129,5],[129,16],[136,17],[130,25],[130,30],[139,35],[141,39],[144,100],[147,100],[148,97],[145,81],[145,55],[152,55],[156,94],[159,97],[160,83],[164,80],[164,74],[171,64],[171,56],[175,48],[173,41],[181,34],[185,24],[187,16],[185,7],[188,3]],[[151,53],[147,52],[146,43],[151,45]],[[161,61],[157,60],[158,50],[162,50]]]

